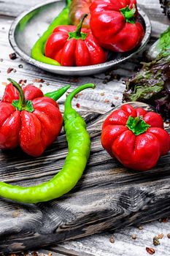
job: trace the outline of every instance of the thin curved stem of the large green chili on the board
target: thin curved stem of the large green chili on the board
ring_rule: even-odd
[[[66,98],[66,102],[64,104],[64,108],[66,111],[69,111],[69,110],[72,110],[72,99],[74,98],[74,96],[76,94],[78,94],[80,91],[83,91],[87,88],[92,88],[92,89],[95,89],[95,85],[93,83],[86,83],[80,87],[78,87],[77,89],[75,89],[74,91],[72,91],[68,97]]]

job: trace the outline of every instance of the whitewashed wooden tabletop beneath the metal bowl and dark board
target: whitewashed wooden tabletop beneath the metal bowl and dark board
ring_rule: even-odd
[[[23,10],[27,10],[34,4],[38,4],[42,0],[2,0],[0,1],[0,97],[3,94],[7,77],[15,80],[27,80],[27,83],[34,83],[40,86],[44,92],[55,89],[55,86],[61,87],[65,84],[71,84],[71,89],[82,83],[96,83],[96,91],[88,94],[83,94],[74,99],[74,106],[80,103],[80,110],[96,110],[99,113],[105,113],[110,110],[111,105],[119,105],[122,99],[122,92],[125,89],[123,80],[134,74],[134,71],[139,67],[139,61],[142,60],[141,54],[135,56],[128,62],[118,66],[112,72],[99,75],[91,75],[89,77],[64,77],[61,75],[52,75],[40,69],[36,69],[29,64],[26,64],[20,58],[11,60],[9,53],[13,50],[8,42],[8,31],[12,20]],[[150,44],[155,41],[158,35],[169,26],[169,20],[161,13],[161,8],[158,0],[139,0],[140,6],[147,12],[152,22],[152,37]],[[149,45],[150,45],[149,44]],[[19,66],[20,65],[20,66]],[[12,72],[7,74],[7,69],[12,68]],[[119,78],[120,79],[117,79]],[[45,83],[36,83],[35,79],[43,79]],[[36,80],[37,81],[37,80]],[[49,85],[50,84],[50,85]],[[63,100],[59,103],[63,109]],[[141,230],[142,229],[142,230]],[[153,236],[163,233],[164,237],[160,240],[161,245],[155,247],[152,244]],[[167,234],[170,233],[170,222],[151,222],[150,224],[138,227],[125,227],[116,232],[101,233],[100,235],[82,238],[77,241],[68,241],[63,244],[51,246],[50,248],[39,250],[39,253],[48,254],[52,251],[53,255],[126,255],[126,256],[144,256],[148,255],[146,246],[151,246],[155,249],[156,256],[168,256],[170,240]],[[136,239],[131,238],[136,235]],[[111,243],[112,236],[115,237],[115,243]]]

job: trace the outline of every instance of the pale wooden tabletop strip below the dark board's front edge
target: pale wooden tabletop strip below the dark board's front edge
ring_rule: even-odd
[[[152,222],[142,225],[143,229],[138,227],[125,227],[115,230],[115,232],[107,232],[93,235],[87,238],[80,238],[75,241],[66,241],[60,244],[64,250],[77,250],[80,252],[90,253],[95,256],[147,256],[146,247],[155,249],[156,256],[169,256],[169,238],[167,234],[170,230],[170,222]],[[160,245],[154,246],[152,238],[163,234],[160,239]],[[131,236],[136,235],[136,239]],[[111,237],[115,238],[115,243],[109,241]],[[51,250],[56,250],[58,246],[50,246]],[[81,254],[79,255],[81,256]]]

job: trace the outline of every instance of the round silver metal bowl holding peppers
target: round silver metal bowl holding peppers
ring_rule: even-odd
[[[45,4],[31,8],[28,12],[23,12],[12,23],[9,29],[9,42],[15,52],[29,64],[60,75],[92,75],[114,68],[117,64],[131,58],[142,50],[150,39],[150,20],[146,13],[139,8],[139,19],[143,23],[145,34],[139,48],[131,52],[113,53],[107,62],[85,67],[58,67],[32,59],[31,48],[36,40],[39,39],[39,36],[47,30],[52,20],[63,10],[63,7],[65,7],[65,1],[48,1]]]

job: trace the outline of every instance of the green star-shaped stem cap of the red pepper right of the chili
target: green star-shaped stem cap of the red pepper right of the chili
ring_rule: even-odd
[[[134,135],[140,135],[147,131],[147,129],[150,127],[150,124],[147,124],[143,120],[143,116],[137,116],[137,117],[128,117],[128,121],[126,123],[126,127],[130,129],[132,132],[134,132]]]

